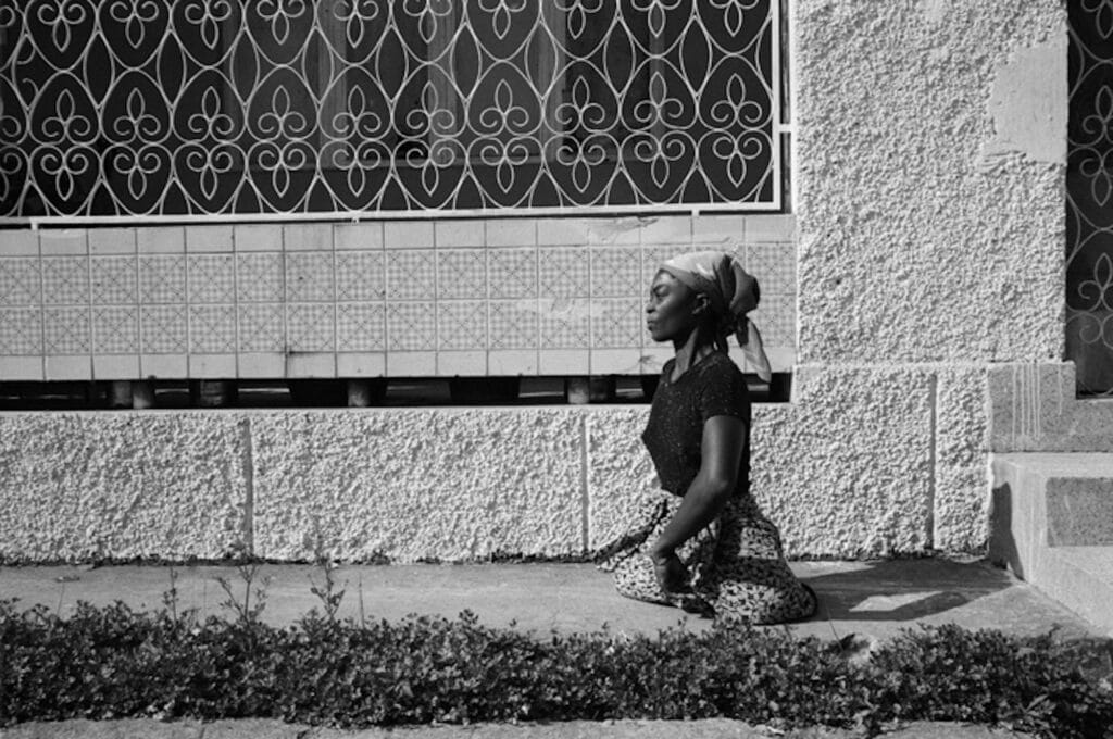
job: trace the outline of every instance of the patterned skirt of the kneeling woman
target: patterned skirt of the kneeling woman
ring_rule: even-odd
[[[604,548],[599,566],[613,573],[620,594],[755,624],[798,621],[815,613],[814,591],[788,569],[777,526],[749,496],[731,499],[710,525],[677,550],[691,574],[691,592],[661,590],[644,552],[681,500],[661,492],[648,501],[640,525]]]

